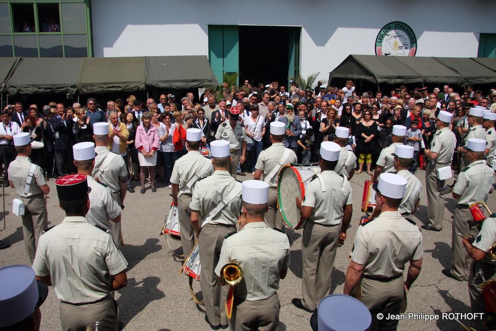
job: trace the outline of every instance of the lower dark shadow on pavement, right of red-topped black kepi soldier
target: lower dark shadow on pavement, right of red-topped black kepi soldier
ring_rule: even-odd
[[[157,288],[160,283],[159,277],[146,277],[136,282],[135,278],[127,279],[127,286],[119,290],[121,297],[117,300],[119,307],[119,320],[124,326],[131,321],[134,316],[143,311],[152,301],[165,297],[164,292]]]

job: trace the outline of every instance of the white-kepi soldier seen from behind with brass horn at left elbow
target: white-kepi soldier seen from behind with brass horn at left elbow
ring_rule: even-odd
[[[241,230],[224,240],[215,268],[219,278],[228,263],[243,270],[241,283],[234,287],[231,330],[270,331],[279,325],[277,290],[288,271],[290,245],[288,236],[264,223],[268,191],[267,183],[243,182]]]

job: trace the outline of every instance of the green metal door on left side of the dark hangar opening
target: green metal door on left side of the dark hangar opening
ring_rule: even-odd
[[[224,74],[237,75],[240,62],[239,54],[239,29],[237,25],[208,26],[209,61],[219,84],[224,82]],[[239,84],[239,81],[237,83]]]

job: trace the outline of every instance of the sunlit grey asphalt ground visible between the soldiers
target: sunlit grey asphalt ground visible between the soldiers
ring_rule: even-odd
[[[417,171],[416,176],[423,183],[421,205],[414,220],[420,227],[427,223],[427,198],[425,193],[425,172]],[[366,173],[356,175],[350,181],[353,190],[353,218],[348,230],[348,239],[338,248],[332,271],[332,293],[342,293],[346,268],[349,264],[353,239],[358,220],[363,215],[360,204]],[[238,176],[238,180],[251,179]],[[448,180],[448,183],[452,180]],[[48,199],[49,226],[59,224],[64,214],[58,206],[55,181],[50,180],[51,193]],[[164,225],[164,217],[171,203],[171,190],[157,183],[157,192],[148,189],[145,194],[127,193],[124,200],[122,249],[127,262],[127,287],[116,293],[119,304],[119,319],[124,322],[124,330],[210,330],[204,321],[201,306],[193,303],[188,289],[188,276],[179,274],[181,262],[173,257],[173,252],[181,253],[180,241],[159,236]],[[6,228],[0,232],[0,240],[12,246],[0,251],[0,265],[30,265],[24,249],[20,217],[12,214],[12,199],[16,194],[12,188],[5,188]],[[1,193],[1,189],[0,189]],[[452,318],[453,314],[469,313],[470,300],[467,282],[459,282],[441,273],[449,268],[451,260],[451,223],[455,200],[445,196],[443,229],[441,232],[422,230],[424,238],[424,258],[422,271],[408,293],[408,309],[399,321],[398,330],[463,330]],[[496,211],[496,193],[490,195],[489,207]],[[3,201],[2,201],[3,203]],[[0,209],[3,216],[3,212]],[[3,217],[2,217],[3,218]],[[2,222],[1,222],[2,223]],[[0,223],[0,229],[2,224]],[[294,307],[291,299],[301,298],[302,253],[301,238],[303,230],[287,230],[291,240],[291,265],[288,275],[280,282],[278,291],[281,301],[280,330],[310,330],[310,313]],[[408,267],[408,266],[407,266]],[[406,268],[407,268],[406,267]],[[406,276],[406,272],[404,273]],[[193,289],[201,298],[200,286],[193,282]],[[55,291],[50,293],[42,308],[41,330],[60,330],[59,301]],[[417,318],[411,314],[418,314]],[[425,321],[438,315],[438,320]],[[420,319],[419,319],[420,317]],[[461,317],[466,324],[470,321]]]

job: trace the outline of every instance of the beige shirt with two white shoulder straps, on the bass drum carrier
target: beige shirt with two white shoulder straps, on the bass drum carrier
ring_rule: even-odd
[[[333,170],[326,170],[321,175],[325,183],[325,192],[322,192],[318,177],[313,177],[305,188],[305,199],[302,205],[313,207],[310,220],[314,223],[341,224],[344,206],[353,203],[350,183],[346,180],[344,192],[342,192],[345,180],[343,175],[338,175]]]

